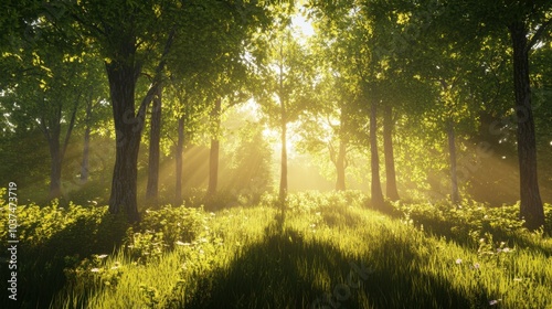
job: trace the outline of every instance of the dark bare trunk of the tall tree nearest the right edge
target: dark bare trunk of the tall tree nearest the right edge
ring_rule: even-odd
[[[529,230],[537,230],[544,225],[544,210],[537,175],[537,142],[529,79],[528,31],[523,22],[514,22],[509,29],[513,47],[513,83],[518,117],[520,219],[526,220],[526,226]]]

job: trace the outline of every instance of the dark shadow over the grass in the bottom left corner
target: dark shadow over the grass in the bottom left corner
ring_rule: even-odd
[[[118,247],[126,233],[126,221],[112,214],[102,217],[79,217],[54,233],[47,242],[31,246],[18,245],[17,301],[2,297],[0,308],[49,308],[55,295],[66,284],[64,268],[75,267],[92,254],[109,254]],[[8,278],[2,267],[1,278]],[[0,288],[6,291],[7,280]]]

